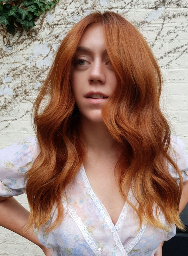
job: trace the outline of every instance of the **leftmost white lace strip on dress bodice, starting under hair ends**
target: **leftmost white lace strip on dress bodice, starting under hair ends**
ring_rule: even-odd
[[[64,207],[66,208],[66,210],[68,210],[68,207],[70,210],[68,210],[70,216],[73,218],[73,220],[75,221],[76,225],[79,227],[83,237],[85,238],[85,241],[88,243],[89,247],[91,248],[91,250],[95,253],[95,255],[97,256],[104,256],[97,248],[97,245],[95,243],[95,241],[93,240],[93,238],[91,237],[91,235],[89,234],[87,228],[85,227],[85,225],[83,224],[83,222],[81,221],[81,218],[79,218],[79,216],[76,214],[76,212],[73,210],[72,206],[69,205],[67,206],[67,202],[65,199],[62,200],[62,203],[64,205]]]

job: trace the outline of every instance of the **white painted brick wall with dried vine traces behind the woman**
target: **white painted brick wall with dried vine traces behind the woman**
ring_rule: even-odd
[[[60,0],[28,33],[18,31],[12,36],[0,26],[0,34],[5,36],[0,38],[0,149],[34,135],[30,123],[32,103],[67,31],[91,10],[112,8],[140,30],[156,55],[165,78],[161,105],[188,152],[186,1],[176,1],[177,5],[153,0],[85,2]],[[15,198],[29,210],[25,194]],[[0,256],[3,255],[44,253],[27,239],[0,227]]]

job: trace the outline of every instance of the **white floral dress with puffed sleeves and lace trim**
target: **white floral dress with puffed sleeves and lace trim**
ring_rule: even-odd
[[[188,180],[188,156],[183,141],[171,136],[171,153],[177,159],[183,182]],[[38,155],[35,137],[27,137],[0,150],[0,196],[16,196],[26,193],[24,174],[30,169]],[[169,171],[179,183],[172,166]],[[113,224],[106,208],[93,191],[83,164],[74,180],[67,187],[68,202],[62,198],[65,208],[61,225],[47,235],[42,229],[35,233],[42,244],[53,248],[53,256],[153,256],[162,241],[175,236],[175,225],[169,232],[143,224],[138,229],[138,216],[127,204]],[[128,198],[136,204],[132,191]],[[161,214],[161,221],[166,221]],[[56,217],[55,206],[51,213],[52,222]],[[48,225],[50,220],[46,223]]]

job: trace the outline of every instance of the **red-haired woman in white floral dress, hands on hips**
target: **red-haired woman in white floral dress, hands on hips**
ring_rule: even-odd
[[[0,151],[0,224],[46,255],[162,255],[175,225],[184,230],[188,157],[161,90],[156,59],[129,21],[111,11],[79,21],[34,103],[36,138]],[[30,215],[10,201],[22,193]]]

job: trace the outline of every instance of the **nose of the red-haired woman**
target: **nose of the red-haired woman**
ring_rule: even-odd
[[[105,83],[105,64],[99,60],[96,59],[92,62],[91,67],[89,68],[89,83],[99,83],[104,84]]]

